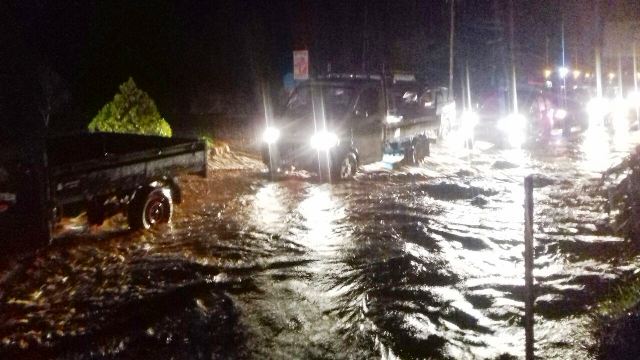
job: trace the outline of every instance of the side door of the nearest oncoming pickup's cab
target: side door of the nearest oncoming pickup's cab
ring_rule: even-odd
[[[382,160],[384,114],[381,95],[380,88],[365,87],[356,102],[351,119],[351,134],[360,164]]]

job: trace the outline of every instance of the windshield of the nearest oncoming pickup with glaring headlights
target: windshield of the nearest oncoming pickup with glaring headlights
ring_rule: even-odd
[[[353,88],[334,85],[313,85],[298,87],[287,103],[287,114],[301,116],[313,112],[312,99],[315,97],[317,104],[324,104],[326,116],[341,117],[352,103]],[[322,109],[322,107],[318,107]]]

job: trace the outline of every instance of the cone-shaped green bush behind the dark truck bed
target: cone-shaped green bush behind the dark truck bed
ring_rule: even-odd
[[[171,136],[171,126],[160,116],[149,95],[138,89],[132,78],[120,85],[120,92],[89,123],[89,131]]]

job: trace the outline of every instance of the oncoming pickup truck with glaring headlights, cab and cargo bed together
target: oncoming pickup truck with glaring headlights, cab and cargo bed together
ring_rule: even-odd
[[[386,153],[421,161],[455,118],[447,98],[446,88],[413,78],[329,74],[304,81],[284,112],[267,119],[263,162],[272,175],[297,168],[339,181]]]

